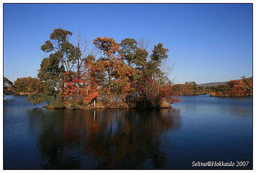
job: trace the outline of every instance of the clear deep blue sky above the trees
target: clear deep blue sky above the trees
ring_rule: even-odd
[[[169,49],[176,84],[252,76],[251,4],[4,4],[4,76],[37,76],[54,28],[96,37],[147,37]]]

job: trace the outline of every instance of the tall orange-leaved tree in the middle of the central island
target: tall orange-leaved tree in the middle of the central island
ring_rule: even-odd
[[[122,61],[122,55],[115,55],[120,45],[113,38],[97,37],[93,43],[103,52],[97,61],[105,74],[105,80],[101,82],[102,92],[109,101],[113,101],[113,95],[127,93],[136,72]]]

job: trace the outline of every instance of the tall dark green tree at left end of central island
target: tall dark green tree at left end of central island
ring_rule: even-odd
[[[64,29],[54,29],[50,40],[45,41],[41,50],[49,54],[41,62],[38,78],[44,83],[40,93],[29,95],[28,100],[34,104],[48,102],[52,105],[63,107],[63,90],[65,89],[65,72],[80,74],[81,66],[87,48],[86,40],[82,41],[81,35],[77,36],[77,46],[70,42],[73,33]],[[83,51],[81,52],[81,48]]]

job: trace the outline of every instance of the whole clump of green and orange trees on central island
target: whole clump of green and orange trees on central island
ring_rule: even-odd
[[[34,104],[84,108],[95,100],[120,107],[163,107],[178,101],[169,89],[168,70],[163,68],[169,50],[162,43],[148,52],[145,41],[125,38],[119,44],[111,37],[97,37],[93,40],[96,49],[86,53],[79,37],[76,45],[70,42],[72,35],[55,29],[41,46],[49,57],[38,70],[44,89],[28,98]]]

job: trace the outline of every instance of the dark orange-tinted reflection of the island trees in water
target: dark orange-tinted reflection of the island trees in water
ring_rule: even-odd
[[[161,136],[181,123],[176,109],[36,108],[28,115],[43,169],[163,168],[168,156],[161,150]]]

